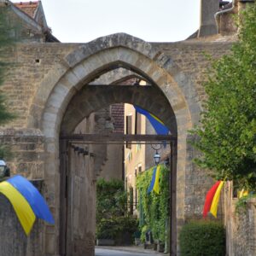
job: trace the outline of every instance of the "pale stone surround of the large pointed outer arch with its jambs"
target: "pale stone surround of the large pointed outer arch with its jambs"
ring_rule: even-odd
[[[155,84],[170,106],[177,122],[177,225],[184,219],[184,187],[187,130],[199,120],[201,106],[194,84],[170,57],[155,51],[150,44],[125,34],[99,38],[81,46],[61,61],[44,79],[34,97],[29,125],[40,128],[45,137],[45,184],[51,207],[58,219],[60,207],[59,134],[63,117],[73,96],[109,68],[126,67]],[[143,103],[140,103],[143,107]],[[139,105],[140,105],[139,104]],[[151,111],[155,113],[155,108]],[[170,111],[171,113],[171,111]],[[170,114],[168,113],[168,114]],[[158,113],[155,113],[159,115]],[[163,120],[166,119],[164,111]],[[167,115],[167,114],[166,114]],[[171,125],[171,124],[170,124]],[[59,226],[45,230],[45,242],[53,240],[49,254],[58,253]]]

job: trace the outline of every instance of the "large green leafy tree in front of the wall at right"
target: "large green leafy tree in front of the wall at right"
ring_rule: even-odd
[[[192,133],[202,156],[196,163],[216,179],[256,186],[256,4],[240,17],[239,41],[213,62],[205,84],[206,111]],[[212,74],[213,73],[213,74]]]

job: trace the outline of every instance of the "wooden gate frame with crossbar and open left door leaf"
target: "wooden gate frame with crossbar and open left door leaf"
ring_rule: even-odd
[[[176,255],[176,179],[177,179],[177,137],[172,135],[123,135],[123,134],[72,134],[60,137],[61,211],[60,252],[61,255],[94,255],[96,178],[93,166],[96,155],[90,152],[91,145],[124,143],[170,143],[170,255]],[[77,145],[81,145],[78,147]],[[83,147],[82,147],[83,145]],[[84,148],[87,148],[84,150]],[[76,154],[79,168],[74,165]],[[87,181],[86,181],[87,180]],[[88,182],[90,180],[90,182]],[[86,187],[87,184],[87,188]],[[87,193],[86,193],[87,189]],[[86,203],[82,203],[86,199]],[[84,215],[87,217],[82,217]],[[94,217],[93,217],[94,215]]]

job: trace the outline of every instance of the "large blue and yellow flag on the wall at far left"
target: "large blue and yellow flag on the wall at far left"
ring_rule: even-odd
[[[36,218],[42,218],[49,224],[55,223],[43,196],[25,177],[17,175],[0,183],[0,193],[11,202],[26,236]]]

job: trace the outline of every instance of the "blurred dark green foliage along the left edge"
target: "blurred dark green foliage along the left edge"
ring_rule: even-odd
[[[15,39],[11,37],[13,28],[9,25],[8,15],[9,7],[0,6],[0,86],[3,85],[10,65],[6,61],[6,54],[9,47],[15,43]],[[9,112],[5,98],[3,92],[0,90],[0,125],[4,125],[15,118],[15,115]],[[0,158],[5,158],[7,152],[7,148],[0,145]]]

